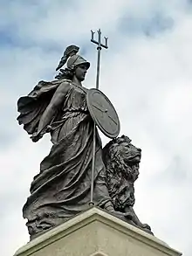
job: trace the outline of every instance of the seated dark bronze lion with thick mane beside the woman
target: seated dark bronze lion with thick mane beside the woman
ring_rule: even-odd
[[[147,224],[142,224],[134,212],[134,182],[139,176],[141,149],[134,147],[131,140],[122,135],[108,142],[103,149],[106,165],[106,184],[115,211],[129,213],[128,223],[151,233]]]

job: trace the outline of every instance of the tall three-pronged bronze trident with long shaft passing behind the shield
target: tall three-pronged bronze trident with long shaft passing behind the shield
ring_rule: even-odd
[[[100,68],[100,51],[103,48],[108,48],[107,45],[107,40],[108,38],[105,38],[105,45],[101,44],[101,31],[99,29],[98,31],[98,41],[94,40],[94,33],[92,31],[92,39],[91,42],[93,42],[93,44],[98,45],[97,46],[97,50],[98,50],[98,60],[97,60],[97,73],[96,73],[96,89],[99,89],[99,68]],[[93,202],[93,190],[94,190],[94,169],[95,169],[95,153],[96,153],[96,124],[94,123],[94,127],[93,127],[93,162],[92,162],[92,181],[91,181],[91,201],[89,203],[90,206],[94,205]]]

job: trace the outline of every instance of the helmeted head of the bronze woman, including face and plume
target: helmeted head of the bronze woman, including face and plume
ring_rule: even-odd
[[[90,63],[82,56],[77,54],[79,47],[76,45],[70,45],[66,47],[63,57],[61,58],[56,71],[60,71],[56,76],[57,79],[69,79],[72,80],[73,76],[76,76],[78,80],[83,81],[86,77],[86,72],[90,67]],[[61,69],[66,63],[65,69]]]

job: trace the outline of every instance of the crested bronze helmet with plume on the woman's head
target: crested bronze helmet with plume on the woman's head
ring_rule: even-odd
[[[58,67],[56,68],[56,71],[58,71],[58,69],[64,66],[66,61],[67,61],[66,66],[68,68],[72,68],[73,66],[79,66],[80,64],[86,64],[87,68],[89,68],[90,63],[86,61],[86,59],[78,55],[77,54],[78,52],[79,52],[79,47],[76,45],[70,45],[66,47],[64,55],[61,58],[58,64]]]

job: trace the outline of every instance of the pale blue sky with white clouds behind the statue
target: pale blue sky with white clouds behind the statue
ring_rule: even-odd
[[[91,62],[91,30],[108,37],[99,88],[120,117],[120,135],[142,149],[134,209],[154,235],[192,255],[192,1],[0,0],[0,247],[29,241],[22,207],[49,135],[38,143],[17,125],[17,99],[53,80],[67,45]],[[109,140],[101,135],[103,144]]]

